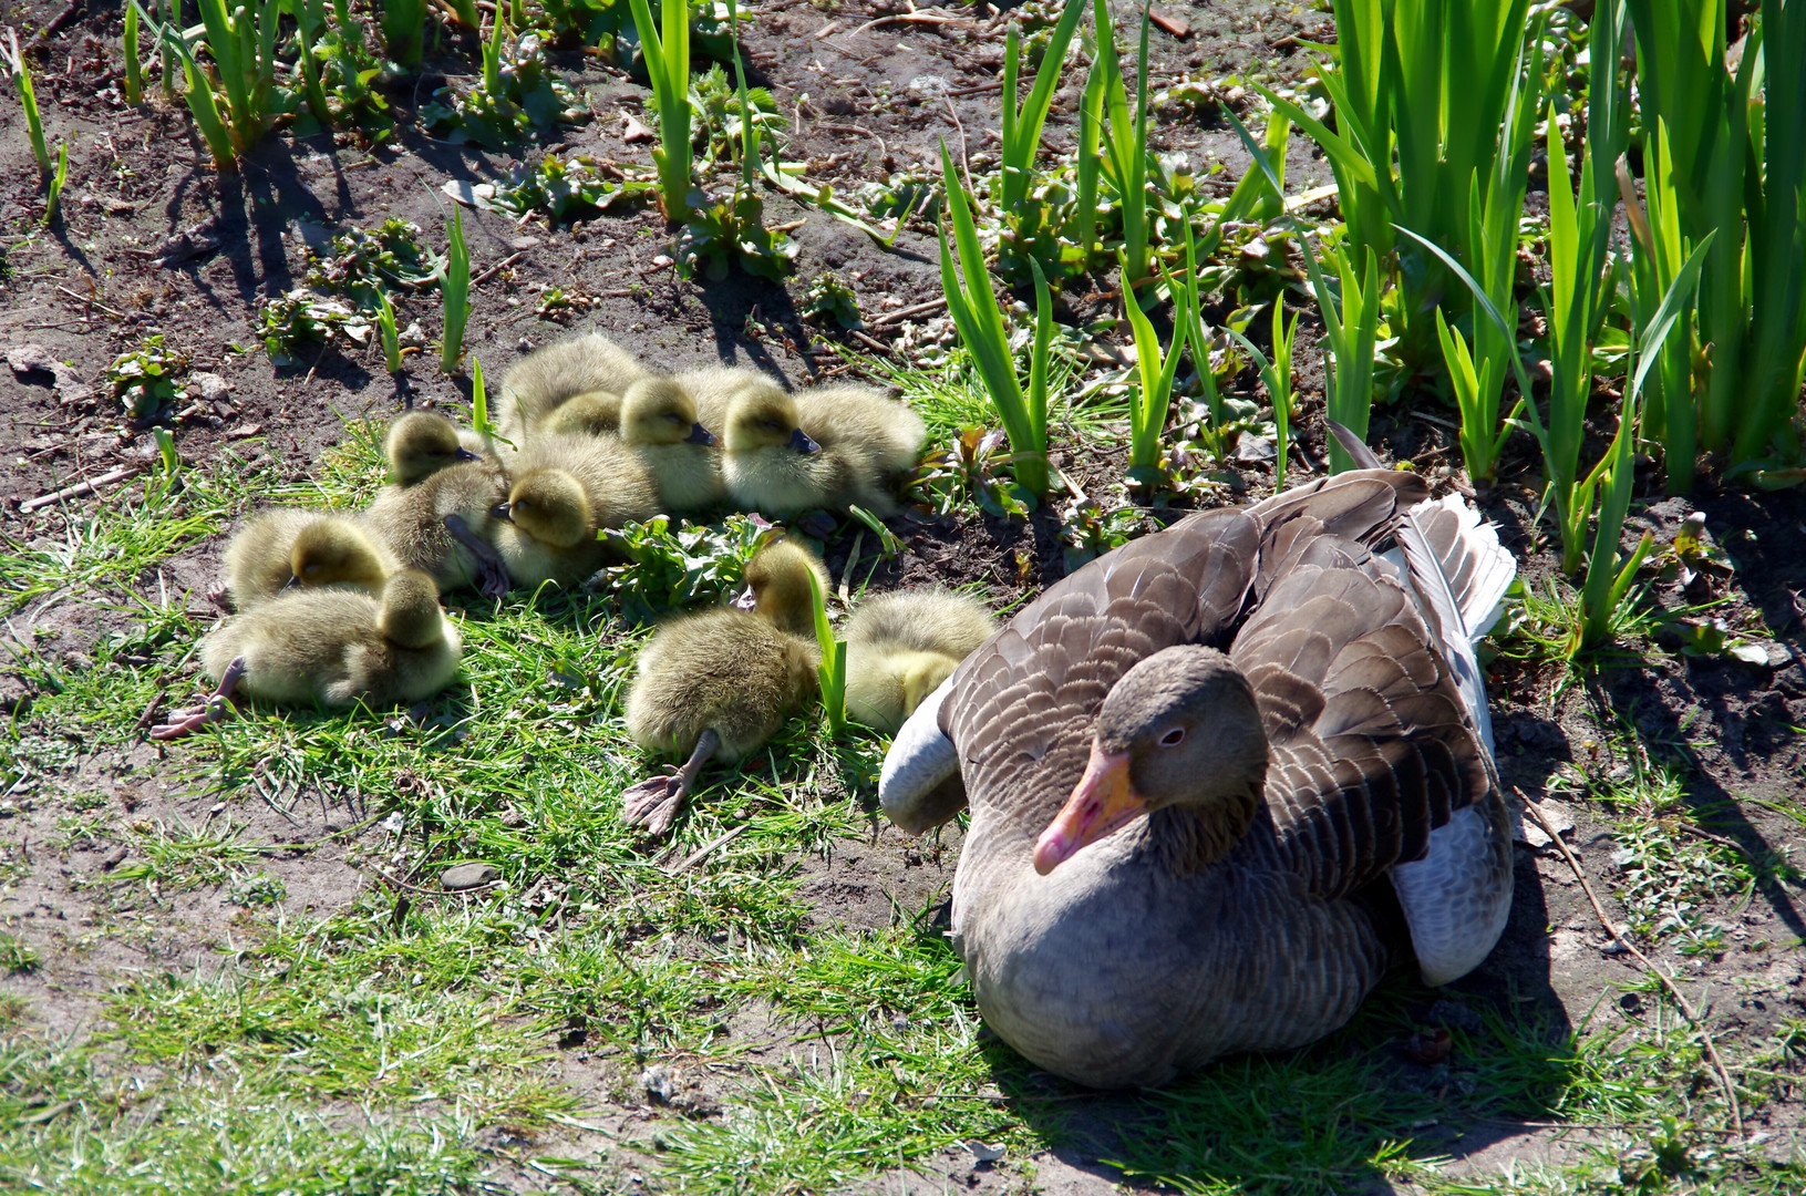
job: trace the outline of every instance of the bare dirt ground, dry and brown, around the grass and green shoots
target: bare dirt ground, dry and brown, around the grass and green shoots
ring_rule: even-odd
[[[1243,0],[1165,7],[1190,29],[1183,40],[1154,33],[1156,72],[1167,79],[1187,72],[1212,78],[1264,72],[1291,79],[1306,65],[1300,42],[1333,36],[1329,16],[1311,9]],[[964,9],[943,23],[883,20],[903,11],[885,4],[777,0],[759,7],[746,33],[755,79],[771,89],[793,119],[786,157],[807,161],[811,177],[836,190],[936,164],[943,137],[964,145],[973,168],[982,155],[995,159],[991,85],[1001,36],[990,36],[990,25]],[[237,177],[222,177],[186,112],[159,103],[126,108],[117,98],[117,7],[78,2],[65,16],[61,4],[29,4],[11,22],[34,31],[52,18],[58,29],[42,45],[25,40],[33,43],[38,99],[52,145],[70,143],[65,217],[52,229],[38,226],[42,197],[23,119],[16,103],[0,105],[0,163],[7,166],[0,181],[5,231],[0,349],[38,345],[47,358],[67,363],[69,376],[60,379],[45,369],[18,365],[0,370],[5,551],[69,544],[90,524],[114,519],[119,504],[141,488],[157,450],[148,430],[121,419],[103,374],[116,354],[154,332],[188,354],[191,370],[213,372],[226,383],[217,397],[179,403],[182,410],[170,425],[184,466],[197,472],[237,453],[247,472],[300,482],[323,452],[347,437],[347,421],[385,419],[408,399],[446,408],[468,403],[468,379],[444,378],[419,358],[403,394],[383,370],[379,349],[343,340],[320,347],[312,360],[276,367],[262,350],[253,320],[260,300],[302,282],[314,226],[368,226],[399,217],[439,242],[450,213],[441,184],[488,181],[517,159],[421,134],[410,121],[412,108],[430,92],[421,83],[392,96],[397,137],[390,146],[368,150],[350,139],[273,135]],[[1125,14],[1118,20],[1131,29]],[[439,54],[428,72],[470,76],[468,51]],[[567,130],[560,150],[650,161],[645,143],[623,141],[627,117],[643,116],[645,89],[578,51],[556,51],[551,60],[594,116]],[[1049,121],[1047,139],[1055,148],[1071,145],[1075,108],[1076,89],[1066,87]],[[1158,143],[1192,154],[1194,163],[1219,157],[1228,179],[1239,177],[1246,164],[1233,135],[1214,116],[1167,119],[1158,126]],[[544,148],[549,146],[522,154]],[[1293,137],[1289,166],[1289,188],[1329,179],[1302,135]],[[650,208],[574,226],[544,220],[515,226],[466,211],[473,269],[497,267],[473,291],[471,350],[498,378],[531,347],[571,327],[592,325],[656,367],[724,360],[804,383],[856,369],[831,343],[876,352],[907,327],[880,325],[876,316],[941,293],[928,226],[908,228],[887,251],[778,195],[768,197],[768,219],[800,220],[795,231],[800,255],[787,287],[739,273],[722,284],[679,278],[668,262],[659,264],[670,237]],[[184,231],[188,242],[172,246]],[[195,246],[199,251],[191,251]],[[798,316],[796,293],[824,271],[852,285],[867,316],[863,336],[829,332]],[[589,296],[592,305],[565,323],[540,318],[535,309],[545,287]],[[1102,276],[1096,291],[1109,291]],[[1078,302],[1069,316],[1096,318],[1112,304],[1114,298]],[[428,331],[439,318],[435,300],[414,302],[397,314],[403,323],[419,320]],[[1313,403],[1320,410],[1313,387],[1322,385],[1315,338],[1317,325],[1308,318],[1299,356],[1306,448],[1320,448],[1317,421],[1309,419]],[[1241,379],[1244,392],[1253,394],[1255,387],[1252,374]],[[1414,410],[1407,403],[1376,412],[1374,439],[1382,452],[1432,472],[1457,461],[1443,425],[1420,419]],[[1423,410],[1441,419],[1452,416],[1434,405]],[[1075,475],[1100,477],[1120,472],[1120,452],[1062,443],[1057,463]],[[98,493],[34,502],[76,482],[110,477],[117,466],[132,475],[101,484]],[[1248,466],[1244,473],[1250,493],[1271,486],[1266,466]],[[1537,486],[1537,463],[1519,452],[1508,461],[1504,481],[1481,497],[1508,546],[1521,555],[1533,593],[1555,573],[1548,546],[1530,535]],[[1629,650],[1569,681],[1562,665],[1530,650],[1524,640],[1506,640],[1492,665],[1499,764],[1508,786],[1551,797],[1573,818],[1568,842],[1606,898],[1607,912],[1640,927],[1649,954],[1708,1015],[1719,1048],[1736,1057],[1770,1059],[1781,1050],[1775,1044],[1792,1042],[1795,1026],[1806,1019],[1806,912],[1793,858],[1806,824],[1801,806],[1806,502],[1799,493],[1748,495],[1718,490],[1710,481],[1690,500],[1663,500],[1651,484],[1640,495],[1629,531],[1647,528],[1658,542],[1671,542],[1694,509],[1707,513],[1707,528],[1734,571],[1708,578],[1703,594],[1681,594],[1676,582],[1656,582],[1647,602],[1656,609],[1719,602],[1712,614],[1761,645],[1766,659],[1685,656],[1660,640],[1634,638]],[[880,589],[984,580],[1004,605],[1064,573],[1060,529],[1047,511],[1010,520],[966,508],[894,526],[908,551],[880,565],[872,580]],[[87,728],[40,712],[47,679],[69,670],[152,668],[164,706],[184,697],[190,688],[181,668],[184,649],[135,645],[130,632],[143,621],[141,603],[186,603],[191,618],[213,618],[204,593],[217,580],[226,531],[222,517],[182,538],[155,569],[7,607],[0,647],[13,659],[0,659],[0,714],[16,732],[18,755],[0,766],[11,786],[0,795],[0,927],[34,954],[36,967],[0,976],[0,988],[25,1001],[20,1023],[25,1033],[45,1039],[96,1033],[105,1026],[105,994],[112,988],[164,974],[217,970],[269,918],[325,918],[347,909],[372,883],[359,858],[372,844],[385,842],[379,820],[386,793],[379,786],[352,795],[302,782],[264,800],[246,790],[222,795],[211,784],[213,773],[188,748],[166,750],[141,733],[126,735],[125,743],[94,743]],[[854,535],[856,526],[847,526],[827,546],[836,580]],[[135,732],[148,726],[150,714],[144,712]],[[1613,804],[1615,786],[1627,790],[1631,779],[1656,766],[1683,777],[1671,804]],[[867,813],[874,809],[869,782],[849,782],[847,790]],[[260,862],[282,885],[275,909],[253,916],[224,885],[161,892],[155,883],[116,880],[144,862],[135,846],[141,840],[119,827],[200,827],[219,817],[224,800],[231,802],[231,818],[246,827],[246,840],[282,846]],[[863,838],[834,838],[784,856],[784,867],[802,869],[805,938],[829,929],[883,929],[894,911],[945,902],[957,865],[957,833],[914,844],[880,822],[870,815]],[[1638,826],[1645,838],[1660,838],[1660,847],[1638,838]],[[1656,860],[1663,851],[1669,855]],[[1676,851],[1690,853],[1687,858],[1708,853],[1718,867],[1748,880],[1663,880],[1663,860],[1672,864]],[[1477,1023],[1483,1015],[1541,1019],[1551,1041],[1580,1030],[1645,1028],[1660,997],[1636,959],[1606,936],[1564,856],[1550,846],[1528,844],[1517,853],[1512,923],[1492,959],[1448,992],[1398,981],[1376,1001],[1389,1001],[1396,1021],[1418,1026]],[[766,1053],[777,1059],[807,1042],[793,1023],[764,1017],[757,1006],[735,1010],[726,1033],[735,1050],[755,1059]],[[722,1106],[733,1100],[731,1086],[704,1071],[688,1109],[656,1106],[636,1088],[638,1062],[587,1051],[582,1033],[565,1039],[560,1079],[587,1111],[582,1120],[596,1129],[562,1129],[538,1142],[573,1156],[607,1153],[623,1183],[634,1176],[659,1183],[659,1151],[652,1145],[659,1126],[722,1117]],[[1398,1053],[1392,1070],[1400,1084],[1434,1091],[1438,1084],[1461,1082],[1459,1064],[1459,1059],[1416,1062]],[[1710,1079],[1676,1100],[1705,1098],[1701,1093],[1712,1095]],[[1806,1106],[1792,1080],[1764,1084],[1763,1093],[1750,1102],[1750,1127],[1768,1135],[1761,1145],[1768,1158],[1788,1160],[1799,1149]],[[1060,1140],[1044,1142],[1026,1158],[991,1162],[970,1145],[946,1145],[903,1173],[874,1178],[870,1191],[898,1191],[899,1182],[908,1191],[917,1191],[916,1182],[932,1191],[1111,1189],[1122,1173],[1102,1160],[1131,1153],[1125,1142],[1147,1127],[1147,1109],[1129,1097],[1078,1100],[1075,1117],[1062,1122]],[[1019,1115],[1033,1124],[1033,1115]],[[1418,1127],[1414,1154],[1452,1158],[1448,1176],[1497,1176],[1512,1163],[1560,1167],[1602,1133],[1575,1131],[1560,1109],[1541,1118],[1447,1124],[1432,1118]],[[520,1171],[507,1174],[511,1183],[542,1182]],[[1373,1180],[1378,1189],[1410,1183]]]

